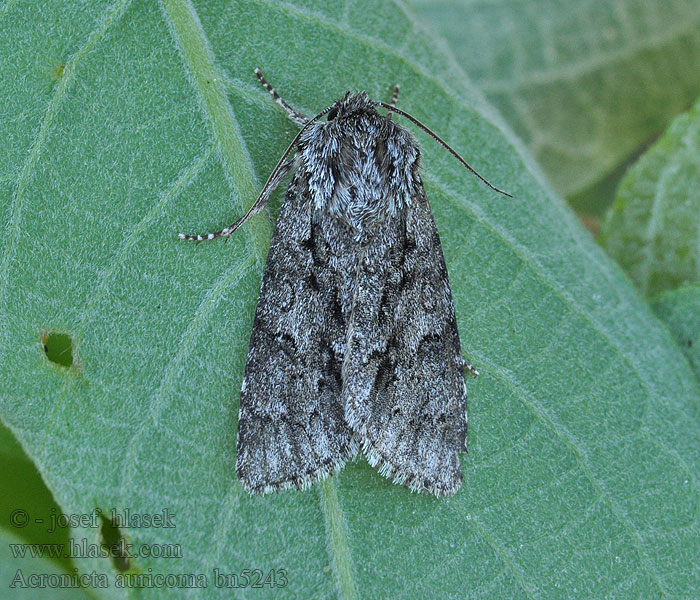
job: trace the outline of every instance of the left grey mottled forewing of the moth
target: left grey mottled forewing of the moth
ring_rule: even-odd
[[[357,450],[340,404],[345,324],[318,284],[312,237],[299,169],[270,244],[241,386],[236,473],[252,492],[306,487]]]

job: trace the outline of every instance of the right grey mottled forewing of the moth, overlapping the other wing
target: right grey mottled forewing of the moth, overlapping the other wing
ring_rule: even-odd
[[[464,361],[442,246],[421,185],[365,250],[343,368],[346,419],[371,465],[436,495],[462,483]]]

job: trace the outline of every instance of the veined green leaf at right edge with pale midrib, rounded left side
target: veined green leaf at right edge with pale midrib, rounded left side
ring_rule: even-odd
[[[700,101],[630,169],[600,243],[653,296],[700,283]]]

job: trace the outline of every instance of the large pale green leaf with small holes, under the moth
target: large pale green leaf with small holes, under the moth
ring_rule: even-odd
[[[221,582],[215,569],[255,568],[284,569],[288,585],[226,597],[694,593],[698,384],[400,4],[34,7],[16,0],[2,14],[0,138],[14,158],[2,163],[0,416],[64,511],[167,508],[175,527],[122,534],[135,549],[176,544],[182,558],[151,552],[131,569],[204,574],[195,597]],[[55,81],[54,61],[65,65]],[[417,133],[463,352],[481,372],[467,383],[470,450],[453,498],[412,494],[363,459],[303,492],[251,497],[236,480],[238,390],[271,226],[259,215],[228,244],[176,236],[240,216],[297,131],[256,66],[307,113],[348,88],[386,99],[400,82],[401,108],[514,195]],[[52,356],[67,356],[66,338],[70,366],[44,350],[60,341]],[[176,592],[146,582],[133,595]]]

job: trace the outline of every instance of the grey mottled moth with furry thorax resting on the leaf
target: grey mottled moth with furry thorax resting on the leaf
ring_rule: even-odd
[[[392,113],[347,92],[301,127],[228,237],[294,176],[270,244],[241,386],[236,473],[254,493],[306,488],[359,450],[411,490],[454,494],[466,450],[467,364],[420,149]],[[386,109],[387,115],[378,112]],[[322,117],[325,121],[321,121]]]

